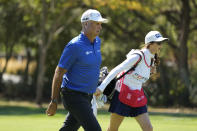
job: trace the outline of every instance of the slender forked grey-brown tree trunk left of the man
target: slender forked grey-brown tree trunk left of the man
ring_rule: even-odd
[[[52,1],[52,5],[54,6],[55,1]],[[54,9],[54,7],[51,7]],[[42,91],[44,84],[44,74],[45,74],[45,60],[47,55],[47,50],[50,47],[53,37],[61,33],[64,29],[63,26],[60,26],[61,19],[64,17],[65,12],[69,9],[73,9],[73,7],[64,8],[60,15],[57,16],[57,19],[52,24],[51,28],[48,30],[48,35],[46,32],[46,24],[47,24],[47,5],[46,1],[42,0],[42,14],[41,14],[41,41],[39,43],[39,62],[38,62],[38,76],[36,82],[36,103],[42,104]],[[59,28],[58,28],[59,27]]]

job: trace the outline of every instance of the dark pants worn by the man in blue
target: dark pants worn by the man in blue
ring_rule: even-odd
[[[93,114],[91,105],[92,95],[73,91],[62,90],[62,101],[69,112],[60,131],[77,131],[80,126],[85,131],[101,131],[101,127]]]

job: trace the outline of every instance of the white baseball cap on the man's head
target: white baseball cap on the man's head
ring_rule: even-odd
[[[98,22],[102,22],[102,23],[107,23],[108,22],[107,19],[102,18],[99,11],[94,10],[94,9],[86,10],[81,16],[81,23],[89,21],[89,20],[98,21]]]

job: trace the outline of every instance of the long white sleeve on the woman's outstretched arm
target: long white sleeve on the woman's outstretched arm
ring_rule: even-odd
[[[139,59],[139,55],[133,54],[114,69],[112,69],[107,77],[103,80],[101,85],[98,86],[99,90],[103,92],[105,87],[110,83],[111,80],[113,80],[113,78],[115,78],[120,72],[124,70],[128,71]]]

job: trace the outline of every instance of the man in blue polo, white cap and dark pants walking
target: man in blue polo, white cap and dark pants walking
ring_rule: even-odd
[[[101,131],[92,108],[91,100],[96,91],[101,65],[100,39],[102,23],[99,11],[89,9],[81,16],[82,32],[65,47],[55,70],[51,102],[46,110],[53,116],[57,110],[57,99],[62,92],[64,107],[68,114],[60,131]]]

